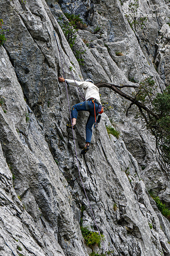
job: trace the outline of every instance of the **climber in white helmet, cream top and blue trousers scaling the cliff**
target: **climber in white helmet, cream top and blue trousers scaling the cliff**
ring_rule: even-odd
[[[86,79],[83,82],[78,82],[70,79],[65,79],[67,83],[73,86],[77,86],[85,89],[85,101],[75,104],[71,110],[71,118],[72,118],[72,125],[67,124],[67,128],[72,128],[75,130],[76,128],[76,120],[78,116],[78,111],[88,111],[89,117],[87,119],[87,123],[85,125],[85,133],[86,133],[86,141],[85,147],[81,151],[81,154],[84,155],[89,150],[89,145],[92,139],[92,126],[95,122],[95,114],[98,115],[98,108],[101,105],[100,102],[100,95],[99,95],[99,88],[94,85],[92,79]],[[63,76],[58,77],[59,82],[65,82]],[[76,82],[76,83],[75,83]],[[77,85],[76,85],[77,84]],[[93,101],[94,102],[93,102]],[[95,114],[94,114],[94,105],[95,105]]]

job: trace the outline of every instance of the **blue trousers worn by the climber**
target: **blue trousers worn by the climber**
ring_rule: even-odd
[[[75,104],[72,107],[71,110],[71,117],[77,119],[78,111],[88,111],[89,117],[87,119],[87,123],[85,125],[85,133],[86,133],[86,142],[91,141],[92,139],[92,126],[95,122],[95,116],[94,116],[94,104],[95,104],[95,112],[96,112],[96,117],[98,116],[98,107],[99,105],[97,103],[93,103],[92,100],[80,102],[78,104]]]

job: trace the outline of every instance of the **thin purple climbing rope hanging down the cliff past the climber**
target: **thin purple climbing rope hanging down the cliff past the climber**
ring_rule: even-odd
[[[53,32],[54,32],[54,36],[55,36],[55,31],[53,31]],[[62,63],[62,60],[61,60],[61,55],[62,55],[62,57],[63,57],[63,54],[62,54],[62,53],[61,53],[61,51],[60,51],[60,48],[59,48],[59,45],[58,45],[58,42],[57,42],[56,36],[55,36],[55,40],[56,40],[56,43],[57,43],[57,47],[58,47],[58,51],[59,51],[59,56],[60,56],[60,61],[61,61],[61,66],[62,66],[62,70],[63,70],[63,76],[64,76],[64,80],[65,80],[65,73],[64,73],[64,69],[63,69],[63,63]],[[63,57],[63,59],[64,59],[64,57]],[[64,61],[65,61],[65,59],[64,59]],[[65,63],[66,63],[66,61],[65,61]],[[66,63],[66,65],[67,65],[67,63]],[[67,67],[68,67],[68,65],[67,65]],[[69,67],[68,67],[68,69],[69,69]],[[69,70],[70,70],[70,69],[69,69]],[[70,72],[70,73],[71,73],[71,72]],[[72,74],[71,74],[71,76],[73,77],[73,75],[72,75]],[[73,80],[74,80],[74,77],[73,77]],[[75,80],[74,80],[74,82],[75,82]],[[75,84],[76,84],[76,82],[75,82]],[[76,85],[77,85],[77,84],[76,84]],[[71,126],[72,126],[72,132],[73,132],[73,139],[74,139],[75,153],[76,153],[76,158],[77,158],[77,166],[78,166],[78,174],[79,174],[79,178],[80,178],[80,180],[81,180],[81,184],[82,184],[82,186],[83,186],[83,189],[84,189],[84,192],[85,192],[85,196],[86,196],[86,198],[87,198],[87,201],[88,201],[88,204],[89,204],[90,210],[91,210],[91,212],[92,212],[92,216],[93,216],[94,222],[95,222],[95,224],[96,224],[97,230],[98,230],[98,232],[99,232],[99,235],[100,235],[100,238],[101,238],[101,241],[102,241],[103,247],[104,247],[104,249],[105,249],[106,255],[108,256],[107,251],[106,251],[106,248],[105,248],[105,245],[104,245],[104,243],[103,243],[103,239],[102,239],[102,237],[101,237],[101,234],[100,234],[100,231],[99,231],[99,228],[98,228],[97,222],[96,222],[96,219],[95,219],[94,214],[93,214],[93,211],[92,211],[91,204],[90,204],[89,199],[88,199],[88,196],[87,196],[87,194],[86,194],[86,191],[85,191],[85,187],[84,187],[83,181],[82,181],[81,176],[80,176],[80,170],[79,170],[79,165],[78,165],[78,156],[77,156],[77,150],[76,150],[76,142],[75,142],[75,138],[74,138],[74,131],[73,131],[73,125],[72,125],[72,118],[71,118],[71,111],[70,111],[70,102],[69,102],[69,96],[68,96],[68,91],[67,91],[67,84],[66,84],[66,80],[65,80],[65,86],[66,86],[67,100],[68,100],[68,105],[69,105],[69,112],[70,112]],[[78,87],[78,85],[77,85],[77,87]],[[78,89],[79,89],[79,88],[78,88]],[[79,90],[79,92],[80,92],[80,90]],[[80,93],[81,93],[81,92],[80,92]],[[81,96],[82,96],[82,94],[81,94]],[[82,98],[83,98],[83,96],[82,96]]]

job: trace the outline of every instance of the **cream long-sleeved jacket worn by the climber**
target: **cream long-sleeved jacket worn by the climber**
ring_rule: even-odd
[[[100,95],[99,95],[99,88],[90,83],[90,82],[78,82],[75,80],[70,80],[70,79],[65,79],[69,84],[73,85],[73,86],[76,86],[76,84],[78,85],[78,87],[80,88],[84,88],[85,89],[85,100],[88,100],[90,98],[94,98],[96,99],[97,101],[99,101],[99,103],[101,104],[101,101],[100,101]]]

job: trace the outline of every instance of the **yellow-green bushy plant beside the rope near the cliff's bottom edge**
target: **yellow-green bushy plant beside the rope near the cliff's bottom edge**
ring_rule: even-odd
[[[104,236],[102,234],[99,235],[98,232],[92,232],[88,230],[87,227],[84,228],[81,226],[80,229],[87,246],[89,246],[90,248],[93,248],[93,245],[97,244],[100,247],[100,242],[101,242],[100,235],[102,239],[104,239]]]

